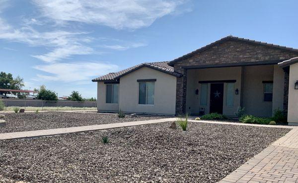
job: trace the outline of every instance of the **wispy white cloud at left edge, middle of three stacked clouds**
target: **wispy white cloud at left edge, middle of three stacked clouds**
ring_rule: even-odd
[[[72,55],[94,53],[91,47],[86,46],[86,43],[91,42],[92,39],[83,37],[85,34],[87,33],[61,30],[38,32],[30,26],[14,29],[0,18],[0,39],[22,42],[30,46],[45,46],[52,49],[49,53],[32,56],[45,62],[60,61]]]

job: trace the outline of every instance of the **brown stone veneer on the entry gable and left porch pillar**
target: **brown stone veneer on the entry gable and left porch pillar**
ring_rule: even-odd
[[[185,113],[187,69],[185,66],[240,63],[255,61],[282,61],[298,57],[298,53],[264,45],[228,40],[201,53],[174,63],[174,70],[183,74],[177,78],[176,114]]]

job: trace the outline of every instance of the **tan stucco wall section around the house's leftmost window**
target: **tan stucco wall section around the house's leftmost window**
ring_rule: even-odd
[[[106,85],[103,82],[97,82],[97,110],[99,112],[119,111],[119,104],[106,103]]]

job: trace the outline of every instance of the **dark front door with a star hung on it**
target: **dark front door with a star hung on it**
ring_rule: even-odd
[[[211,83],[210,113],[223,114],[224,83]]]

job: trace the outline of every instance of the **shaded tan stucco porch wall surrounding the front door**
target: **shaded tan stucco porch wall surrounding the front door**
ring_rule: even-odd
[[[226,106],[226,83],[224,83],[224,106],[223,114],[234,116],[235,111],[240,106],[241,94],[241,67],[224,67],[224,68],[205,68],[190,69],[187,71],[187,91],[186,91],[186,111],[191,114],[198,114],[200,108],[205,108],[205,114],[210,110],[210,83],[208,84],[207,106],[200,105],[201,84],[199,81],[206,80],[236,80],[235,89],[238,88],[239,94],[234,94],[234,106]],[[196,89],[199,95],[195,94]]]

